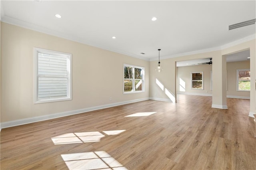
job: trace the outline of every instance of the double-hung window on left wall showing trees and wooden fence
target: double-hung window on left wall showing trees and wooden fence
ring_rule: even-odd
[[[124,64],[124,93],[144,91],[144,67]]]

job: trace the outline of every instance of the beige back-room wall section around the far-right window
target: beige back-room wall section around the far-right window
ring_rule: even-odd
[[[239,61],[227,63],[227,95],[250,97],[250,91],[236,91],[236,70],[250,69],[250,61]]]

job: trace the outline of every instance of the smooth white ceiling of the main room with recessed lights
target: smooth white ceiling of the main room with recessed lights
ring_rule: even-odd
[[[222,47],[255,35],[253,1],[1,1],[2,22],[146,60]],[[60,14],[62,18],[56,18]],[[156,21],[151,18],[156,17]],[[116,36],[116,39],[112,39]],[[145,54],[141,54],[145,53]]]

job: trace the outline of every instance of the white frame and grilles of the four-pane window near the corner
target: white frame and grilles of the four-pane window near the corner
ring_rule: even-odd
[[[124,78],[124,67],[132,67],[132,79],[125,79]],[[138,68],[138,69],[142,69],[142,79],[135,79],[135,76],[134,76],[134,69],[135,68]],[[138,66],[138,65],[130,65],[130,64],[124,64],[123,65],[123,94],[132,94],[132,93],[143,93],[144,92],[144,76],[145,76],[145,67],[142,67],[142,66]],[[128,92],[125,92],[124,91],[124,80],[132,80],[132,91],[128,91]],[[141,91],[134,91],[135,89],[135,80],[142,80],[142,90]]]

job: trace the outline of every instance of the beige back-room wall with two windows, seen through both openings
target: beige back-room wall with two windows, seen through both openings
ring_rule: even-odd
[[[250,69],[250,61],[238,61],[227,63],[227,96],[228,97],[250,97],[250,92],[236,91],[236,70]],[[195,90],[190,88],[190,73],[194,71],[204,72],[204,90]],[[178,93],[192,93],[202,95],[212,95],[210,90],[210,71],[212,65],[194,65],[186,67],[178,67],[177,74],[177,91]],[[180,91],[180,79],[186,83],[186,91]]]

